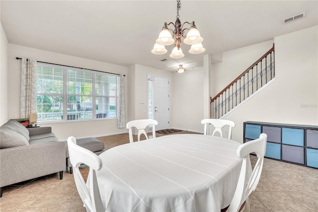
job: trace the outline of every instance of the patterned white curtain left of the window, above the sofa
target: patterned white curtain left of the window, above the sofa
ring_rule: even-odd
[[[36,60],[21,60],[21,105],[20,118],[27,118],[36,112]]]

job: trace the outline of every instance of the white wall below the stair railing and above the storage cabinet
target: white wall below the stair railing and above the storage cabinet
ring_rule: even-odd
[[[244,121],[318,125],[318,26],[274,41],[275,81],[225,117],[236,123],[234,140],[242,142]]]

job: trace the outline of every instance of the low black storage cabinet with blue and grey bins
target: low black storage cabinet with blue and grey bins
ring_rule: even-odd
[[[265,157],[318,169],[318,126],[244,122],[243,142],[267,134]]]

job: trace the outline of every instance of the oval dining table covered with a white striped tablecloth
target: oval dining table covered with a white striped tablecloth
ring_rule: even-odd
[[[99,155],[97,182],[107,212],[219,212],[230,205],[242,160],[234,140],[173,134]]]

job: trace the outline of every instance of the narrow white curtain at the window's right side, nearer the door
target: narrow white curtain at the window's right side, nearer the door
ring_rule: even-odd
[[[117,77],[117,127],[126,127],[125,118],[125,87],[124,87],[124,75],[120,74]]]

